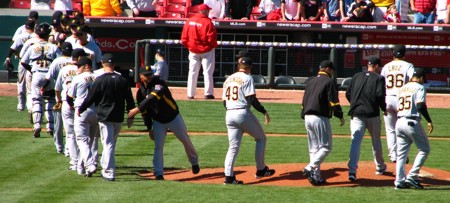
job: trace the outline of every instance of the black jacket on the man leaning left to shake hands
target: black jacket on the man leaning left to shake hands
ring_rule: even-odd
[[[169,87],[159,77],[153,77],[146,87],[141,84],[136,100],[140,112],[146,112],[160,123],[168,123],[180,113]]]

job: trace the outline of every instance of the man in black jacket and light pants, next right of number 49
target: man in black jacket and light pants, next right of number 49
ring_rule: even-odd
[[[341,126],[345,123],[333,74],[333,62],[322,61],[318,75],[306,81],[302,102],[301,117],[305,119],[310,157],[303,175],[315,186],[326,183],[326,179],[320,176],[320,164],[332,149],[330,118],[334,115],[340,119]]]

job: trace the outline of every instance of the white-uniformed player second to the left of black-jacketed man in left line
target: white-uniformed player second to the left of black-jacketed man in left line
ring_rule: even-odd
[[[69,152],[69,170],[79,174],[84,174],[84,168],[78,166],[78,145],[74,132],[74,109],[67,102],[67,90],[70,87],[73,77],[77,75],[78,67],[74,65],[82,56],[87,56],[83,49],[74,49],[72,51],[72,63],[61,68],[56,79],[55,92],[58,103],[62,103],[61,116],[63,117],[64,130],[66,132],[66,148]]]

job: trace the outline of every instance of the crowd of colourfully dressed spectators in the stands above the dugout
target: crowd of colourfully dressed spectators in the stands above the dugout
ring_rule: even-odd
[[[450,23],[449,0],[11,0],[11,8],[78,10],[85,16],[189,18],[205,3],[211,19]]]

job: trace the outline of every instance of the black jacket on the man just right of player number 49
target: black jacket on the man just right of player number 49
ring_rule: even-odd
[[[334,116],[342,118],[344,115],[339,104],[337,84],[323,71],[306,81],[302,107],[302,118],[305,115],[331,118],[333,113]]]

